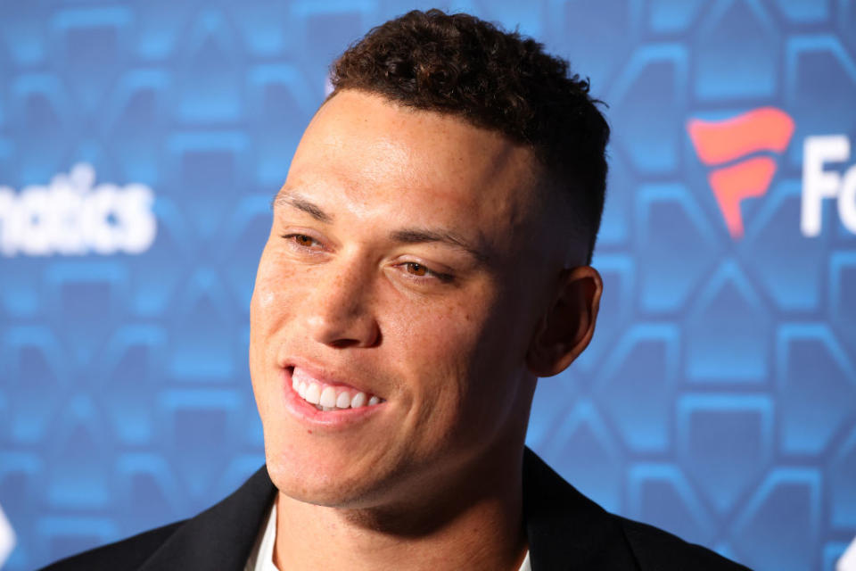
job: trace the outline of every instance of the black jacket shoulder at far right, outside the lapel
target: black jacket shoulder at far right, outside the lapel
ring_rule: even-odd
[[[685,542],[677,535],[654,525],[643,524],[626,517],[613,516],[621,525],[630,549],[643,571],[667,569],[696,569],[698,571],[746,571],[744,567],[718,553]]]

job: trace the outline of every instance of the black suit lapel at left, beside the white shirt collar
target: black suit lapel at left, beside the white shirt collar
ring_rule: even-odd
[[[186,520],[140,571],[243,571],[275,490],[267,467],[259,468],[226,500]]]

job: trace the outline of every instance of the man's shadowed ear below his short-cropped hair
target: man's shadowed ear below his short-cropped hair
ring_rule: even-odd
[[[590,266],[564,269],[555,301],[539,322],[526,352],[526,364],[538,377],[564,371],[588,346],[595,332],[604,283]]]

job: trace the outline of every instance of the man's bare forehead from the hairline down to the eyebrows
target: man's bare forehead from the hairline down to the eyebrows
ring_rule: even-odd
[[[345,90],[313,118],[274,203],[403,211],[407,226],[439,221],[502,242],[531,235],[550,210],[541,182],[534,153],[498,132]]]

